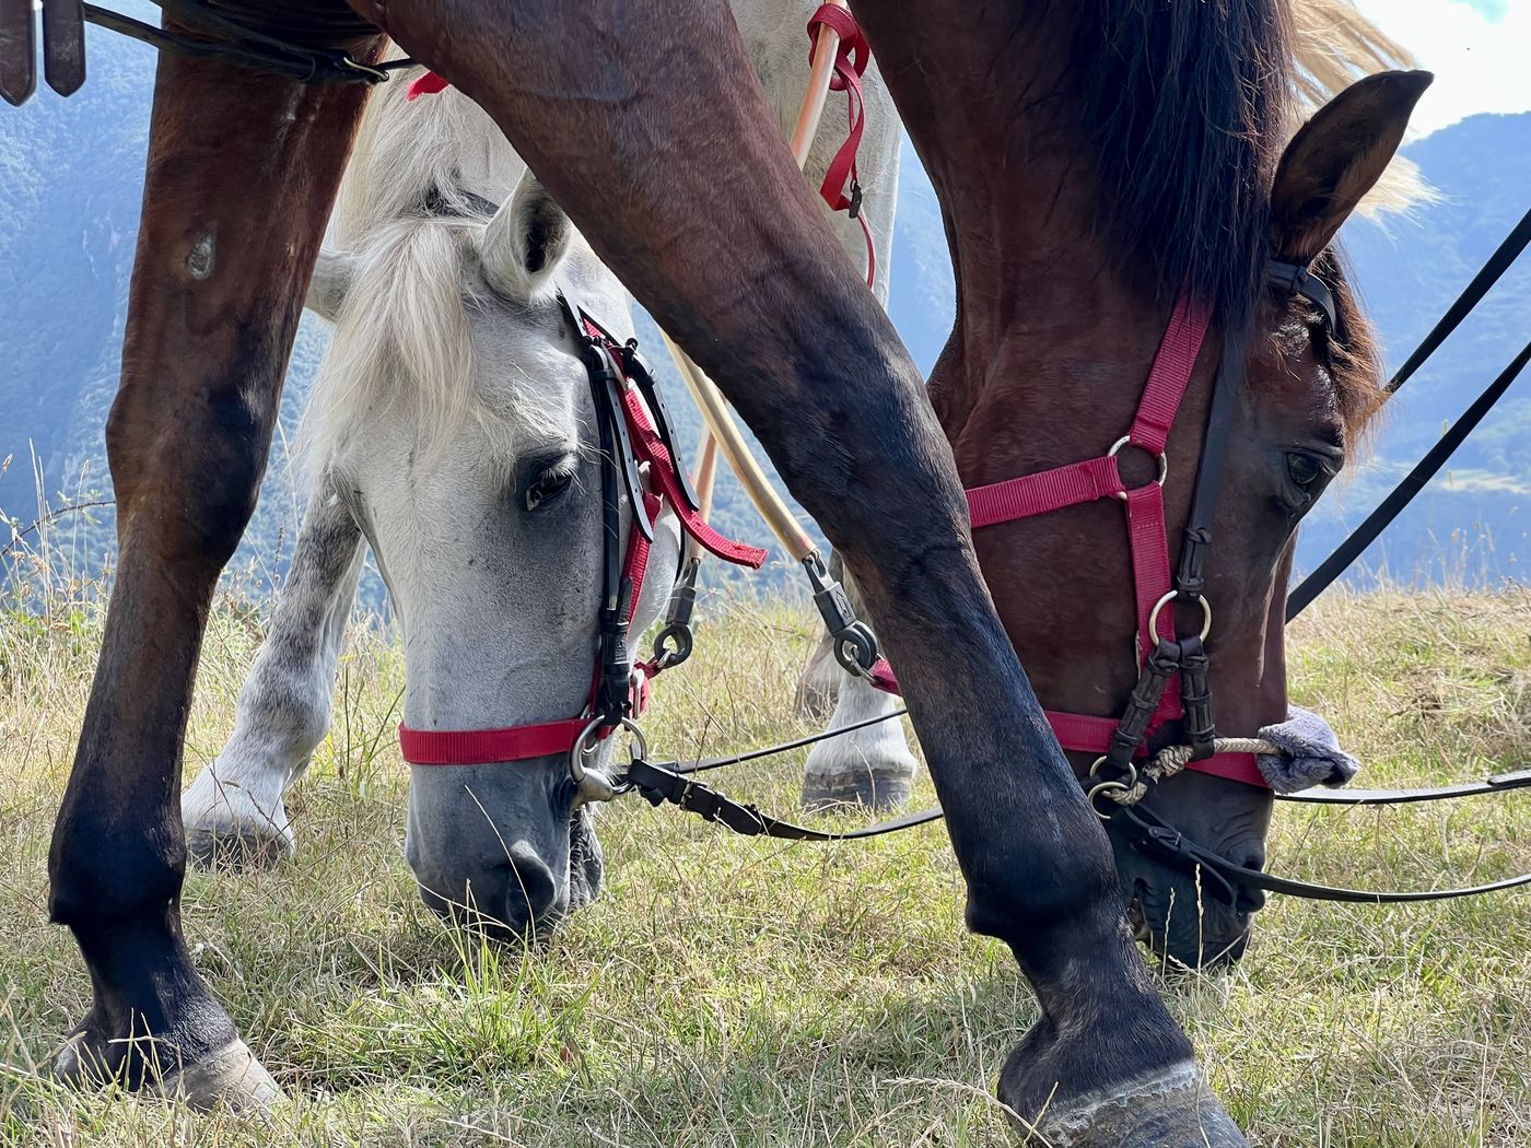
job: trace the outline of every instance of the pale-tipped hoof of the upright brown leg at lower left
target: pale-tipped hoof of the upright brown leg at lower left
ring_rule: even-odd
[[[129,1044],[138,1061],[132,1065],[122,1052]],[[54,1061],[54,1076],[77,1088],[116,1079],[197,1111],[225,1108],[243,1116],[266,1113],[285,1099],[271,1073],[237,1036],[188,1062],[179,1055],[167,1058],[147,1038],[109,1039],[87,1026],[64,1044]]]

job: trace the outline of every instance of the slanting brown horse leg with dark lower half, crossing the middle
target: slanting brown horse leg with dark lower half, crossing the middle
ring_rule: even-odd
[[[908,686],[969,923],[1010,944],[1041,1000],[1007,1099],[1090,1122],[1115,1096],[1136,1113],[1157,1096],[1165,1120],[1108,1142],[1239,1143],[1216,1105],[1180,1120],[1203,1097],[1190,1042],[978,576],[919,372],[782,147],[721,0],[351,2],[488,109],[845,556]],[[1107,1142],[1087,1137],[1070,1133]]]

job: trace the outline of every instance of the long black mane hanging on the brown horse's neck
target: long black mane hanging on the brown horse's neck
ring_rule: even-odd
[[[1249,312],[1269,243],[1292,47],[1283,0],[1038,0],[1095,152],[1096,227],[1160,300]]]

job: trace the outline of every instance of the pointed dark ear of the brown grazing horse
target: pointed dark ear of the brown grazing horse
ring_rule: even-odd
[[[1392,162],[1431,80],[1428,72],[1358,80],[1292,136],[1271,188],[1277,259],[1306,265],[1329,245]]]

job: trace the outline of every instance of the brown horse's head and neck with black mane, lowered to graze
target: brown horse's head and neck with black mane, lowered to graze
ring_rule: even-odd
[[[1245,332],[1205,594],[1217,732],[1252,738],[1288,716],[1283,606],[1297,525],[1384,396],[1332,240],[1430,77],[1353,84],[1283,152],[1292,63],[1281,9],[1240,0],[1226,26],[1236,34],[1208,37],[1191,8],[1148,21],[1115,0],[1020,5],[965,17],[974,35],[949,60],[926,58],[912,38],[873,46],[896,95],[920,69],[961,78],[955,98],[902,110],[952,242],[957,323],[931,393],[966,487],[1105,455],[1133,422],[1174,302],[1190,297],[1213,320],[1165,452],[1174,569],[1213,380],[1228,332]],[[1269,286],[1272,260],[1321,280],[1332,326],[1304,297]],[[1139,450],[1122,452],[1119,468],[1128,488],[1157,476]],[[1141,666],[1121,502],[987,527],[975,543],[1043,704],[1119,716]],[[1188,609],[1177,632],[1199,625]],[[1170,719],[1147,748],[1185,741]],[[1096,758],[1070,753],[1081,776]],[[1271,807],[1263,785],[1194,771],[1144,799],[1251,868],[1265,862]],[[1113,827],[1124,894],[1156,951],[1197,966],[1243,951],[1257,892],[1211,895],[1206,874],[1115,837]]]

